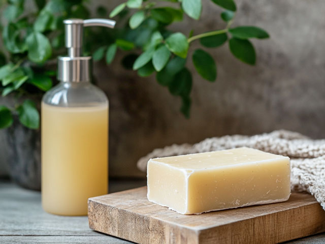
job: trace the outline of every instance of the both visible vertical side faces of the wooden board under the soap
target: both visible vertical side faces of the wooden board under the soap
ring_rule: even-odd
[[[325,211],[316,201],[218,227],[191,229],[107,205],[102,199],[88,200],[89,227],[138,243],[149,243],[153,238],[155,243],[277,243],[325,231]]]

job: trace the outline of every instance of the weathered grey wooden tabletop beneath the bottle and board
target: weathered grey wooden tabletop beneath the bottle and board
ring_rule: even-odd
[[[145,180],[111,180],[110,192],[132,189]],[[40,192],[22,189],[9,180],[0,180],[0,243],[132,243],[92,231],[87,217],[47,214]],[[290,241],[325,243],[325,233]]]

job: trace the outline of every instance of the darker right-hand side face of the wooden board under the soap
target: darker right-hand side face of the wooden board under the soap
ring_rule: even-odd
[[[312,203],[201,230],[199,243],[279,243],[324,231],[325,211]]]

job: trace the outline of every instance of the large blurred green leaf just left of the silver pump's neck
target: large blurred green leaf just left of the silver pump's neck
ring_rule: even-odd
[[[28,58],[35,63],[44,63],[52,54],[51,44],[47,37],[38,32],[32,32],[26,39]]]

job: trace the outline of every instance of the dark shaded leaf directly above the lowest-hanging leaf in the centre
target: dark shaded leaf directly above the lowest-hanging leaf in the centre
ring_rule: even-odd
[[[183,68],[169,84],[169,92],[175,96],[187,97],[192,89],[192,75],[188,69]]]

